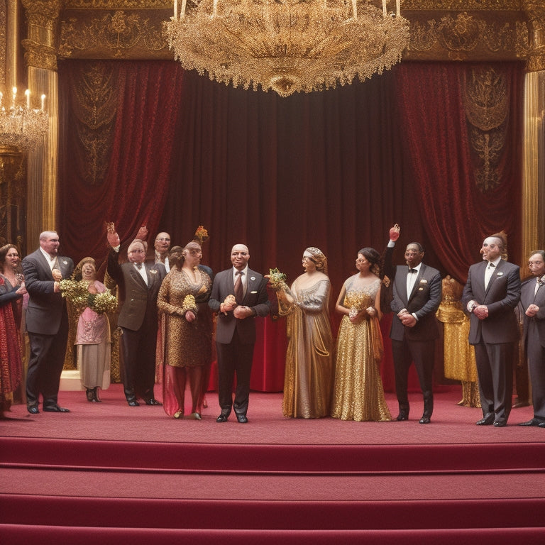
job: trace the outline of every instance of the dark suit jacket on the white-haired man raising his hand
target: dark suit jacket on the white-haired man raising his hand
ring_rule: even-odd
[[[108,254],[108,274],[119,286],[121,310],[117,324],[131,331],[138,331],[146,316],[157,321],[157,296],[161,282],[167,274],[163,263],[143,263],[148,275],[148,285],[145,285],[140,273],[133,263],[118,263],[118,253],[110,250]]]

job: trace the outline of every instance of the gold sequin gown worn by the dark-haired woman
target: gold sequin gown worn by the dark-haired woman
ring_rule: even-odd
[[[352,290],[351,284],[349,279],[344,307],[360,310],[374,306],[380,280],[358,290]],[[337,336],[332,417],[358,422],[392,419],[380,378],[383,352],[378,316],[358,324],[343,316]]]

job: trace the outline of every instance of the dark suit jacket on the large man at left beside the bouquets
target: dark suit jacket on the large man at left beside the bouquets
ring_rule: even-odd
[[[64,255],[57,255],[62,278],[70,278],[74,262]],[[65,298],[55,293],[53,275],[40,249],[27,255],[21,263],[28,291],[26,329],[30,333],[56,335],[59,331],[62,313],[66,312]]]

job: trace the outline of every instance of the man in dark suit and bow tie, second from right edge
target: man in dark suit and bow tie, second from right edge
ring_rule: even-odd
[[[483,418],[478,426],[507,425],[513,391],[512,360],[519,339],[514,309],[520,298],[517,265],[502,260],[505,238],[485,238],[483,261],[471,265],[462,304],[470,314],[469,343],[475,346]]]

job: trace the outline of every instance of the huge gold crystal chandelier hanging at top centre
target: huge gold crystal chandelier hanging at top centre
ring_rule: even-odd
[[[186,70],[281,97],[351,84],[400,62],[400,0],[178,0],[165,35]],[[395,6],[395,12],[388,5]]]

